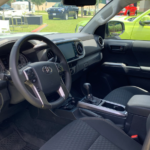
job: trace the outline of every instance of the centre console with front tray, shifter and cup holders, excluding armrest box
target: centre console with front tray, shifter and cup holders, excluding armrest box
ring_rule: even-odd
[[[68,98],[57,110],[57,115],[66,116],[68,119],[103,117],[124,127],[128,116],[125,106],[94,97],[89,83],[83,85],[83,93],[85,97],[82,99]]]

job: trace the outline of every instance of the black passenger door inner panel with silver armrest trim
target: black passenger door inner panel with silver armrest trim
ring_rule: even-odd
[[[150,42],[106,39],[100,71],[118,87],[132,85],[150,91]]]

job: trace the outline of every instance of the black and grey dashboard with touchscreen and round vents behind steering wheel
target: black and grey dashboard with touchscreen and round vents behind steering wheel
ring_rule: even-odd
[[[104,48],[104,41],[97,35],[79,33],[44,36],[52,40],[63,53],[69,64],[73,80],[79,72],[87,70],[102,59],[101,51]],[[9,74],[9,55],[17,39],[19,37],[10,38],[9,40],[0,39],[0,74]],[[25,67],[28,63],[47,60],[59,62],[54,52],[45,43],[36,40],[28,41],[20,48],[18,69]],[[14,90],[11,88],[14,87],[9,87],[10,93],[13,95]],[[23,98],[12,96],[10,103],[16,104],[21,101],[23,101]]]

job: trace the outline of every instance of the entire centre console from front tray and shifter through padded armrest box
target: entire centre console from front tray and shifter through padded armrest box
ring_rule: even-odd
[[[59,116],[69,119],[81,117],[103,117],[121,127],[129,136],[138,135],[142,143],[146,137],[146,120],[150,114],[150,95],[135,95],[127,106],[99,99],[92,95],[89,83],[83,85],[85,95],[82,99],[70,98],[61,110]]]

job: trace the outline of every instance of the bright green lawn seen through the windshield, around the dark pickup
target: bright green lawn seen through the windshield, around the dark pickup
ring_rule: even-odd
[[[40,15],[40,13],[38,15]],[[74,33],[76,25],[79,22],[81,22],[83,20],[89,20],[90,18],[92,18],[92,17],[86,17],[86,18],[79,17],[78,19],[74,19],[73,17],[71,17],[68,20],[61,20],[58,18],[54,18],[53,20],[49,20],[47,13],[41,14],[41,15],[43,16],[43,23],[46,23],[47,27],[44,28],[43,30],[41,30],[40,32]],[[28,25],[27,28],[16,27],[14,31],[11,28],[11,31],[13,33],[31,32],[38,27],[39,27],[38,25]]]

